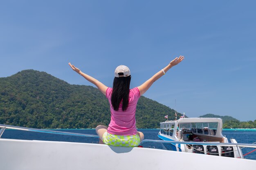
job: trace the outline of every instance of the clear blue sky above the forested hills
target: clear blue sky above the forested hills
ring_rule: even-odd
[[[9,0],[0,2],[0,77],[44,71],[91,85],[68,62],[112,86],[127,65],[131,87],[184,55],[144,94],[189,117],[256,119],[256,2]],[[168,113],[163,113],[166,115]]]

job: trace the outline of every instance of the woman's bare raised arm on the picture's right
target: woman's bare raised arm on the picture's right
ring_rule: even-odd
[[[149,78],[145,83],[140,85],[138,87],[140,95],[142,96],[148,89],[149,87],[158,80],[158,78],[162,77],[170,68],[172,68],[174,65],[177,65],[184,59],[184,56],[180,56],[179,58],[176,57],[173,61],[171,61],[165,68],[157,72],[154,76]]]

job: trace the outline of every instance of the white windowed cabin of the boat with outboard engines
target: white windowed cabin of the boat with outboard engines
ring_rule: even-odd
[[[159,135],[175,141],[228,142],[222,135],[220,118],[180,118],[161,122]]]

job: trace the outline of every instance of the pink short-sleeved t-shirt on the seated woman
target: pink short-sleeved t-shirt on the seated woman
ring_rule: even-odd
[[[112,88],[108,87],[106,97],[110,103],[111,120],[108,125],[108,133],[113,135],[136,135],[136,120],[135,112],[137,102],[140,97],[139,89],[137,87],[130,89],[129,104],[126,111],[122,111],[122,104],[120,103],[118,111],[115,111],[111,104]]]

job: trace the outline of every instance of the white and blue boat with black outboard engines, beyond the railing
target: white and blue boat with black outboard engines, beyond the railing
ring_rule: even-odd
[[[161,122],[158,137],[164,141],[190,142],[189,144],[164,144],[167,150],[222,157],[243,157],[240,147],[221,145],[237,142],[236,139],[229,141],[222,134],[220,118],[183,117],[179,120]]]

